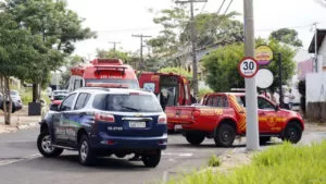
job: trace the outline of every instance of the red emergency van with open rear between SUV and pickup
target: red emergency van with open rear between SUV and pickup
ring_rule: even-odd
[[[154,93],[160,99],[162,90],[168,93],[168,106],[188,106],[191,105],[189,81],[173,73],[153,73],[145,72],[139,76],[140,88]]]

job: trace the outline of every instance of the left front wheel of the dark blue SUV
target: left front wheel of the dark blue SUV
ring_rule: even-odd
[[[45,157],[58,157],[63,149],[52,147],[51,137],[47,131],[41,132],[37,137],[37,148]]]

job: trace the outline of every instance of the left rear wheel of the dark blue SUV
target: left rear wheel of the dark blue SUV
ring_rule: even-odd
[[[83,165],[93,164],[95,155],[93,151],[91,150],[87,135],[83,135],[79,140],[78,156],[79,156],[79,162]]]

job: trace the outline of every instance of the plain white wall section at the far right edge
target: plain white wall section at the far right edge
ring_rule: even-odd
[[[306,102],[326,101],[326,72],[306,74],[305,85]]]

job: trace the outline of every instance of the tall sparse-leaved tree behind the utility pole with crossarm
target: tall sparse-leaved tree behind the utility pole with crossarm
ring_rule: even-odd
[[[202,13],[195,16],[197,47],[209,47],[216,42],[231,44],[243,41],[243,24],[235,17],[237,12],[225,15]],[[165,65],[181,66],[181,57],[189,53],[191,26],[183,7],[163,10],[155,17],[155,24],[163,26],[161,34],[149,40],[158,59],[164,58]]]

